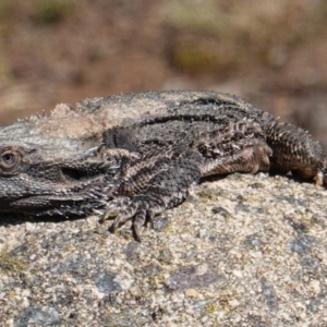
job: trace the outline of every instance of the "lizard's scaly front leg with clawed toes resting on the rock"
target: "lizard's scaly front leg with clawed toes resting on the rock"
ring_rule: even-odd
[[[158,171],[138,193],[116,204],[114,201],[109,203],[104,219],[112,209],[118,211],[110,230],[114,232],[119,226],[132,220],[134,237],[140,241],[141,229],[146,221],[152,222],[155,215],[180,204],[187,196],[192,184],[199,181],[201,160],[202,157],[196,154],[175,158]]]

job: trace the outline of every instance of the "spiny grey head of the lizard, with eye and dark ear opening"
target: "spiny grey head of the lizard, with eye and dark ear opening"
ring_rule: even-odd
[[[86,216],[119,186],[130,153],[70,142],[0,146],[0,211]]]

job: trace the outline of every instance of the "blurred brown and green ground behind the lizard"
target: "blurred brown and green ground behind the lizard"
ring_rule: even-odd
[[[327,149],[326,0],[0,0],[0,124],[148,89],[237,94]]]

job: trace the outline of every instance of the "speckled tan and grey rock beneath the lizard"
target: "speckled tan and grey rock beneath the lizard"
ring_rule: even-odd
[[[142,243],[97,217],[1,217],[1,326],[327,326],[326,190],[232,174]]]

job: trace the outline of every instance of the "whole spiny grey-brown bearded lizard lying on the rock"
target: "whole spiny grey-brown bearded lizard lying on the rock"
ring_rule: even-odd
[[[59,105],[0,129],[0,210],[141,227],[204,177],[292,172],[327,184],[318,142],[226,95],[150,92]]]

